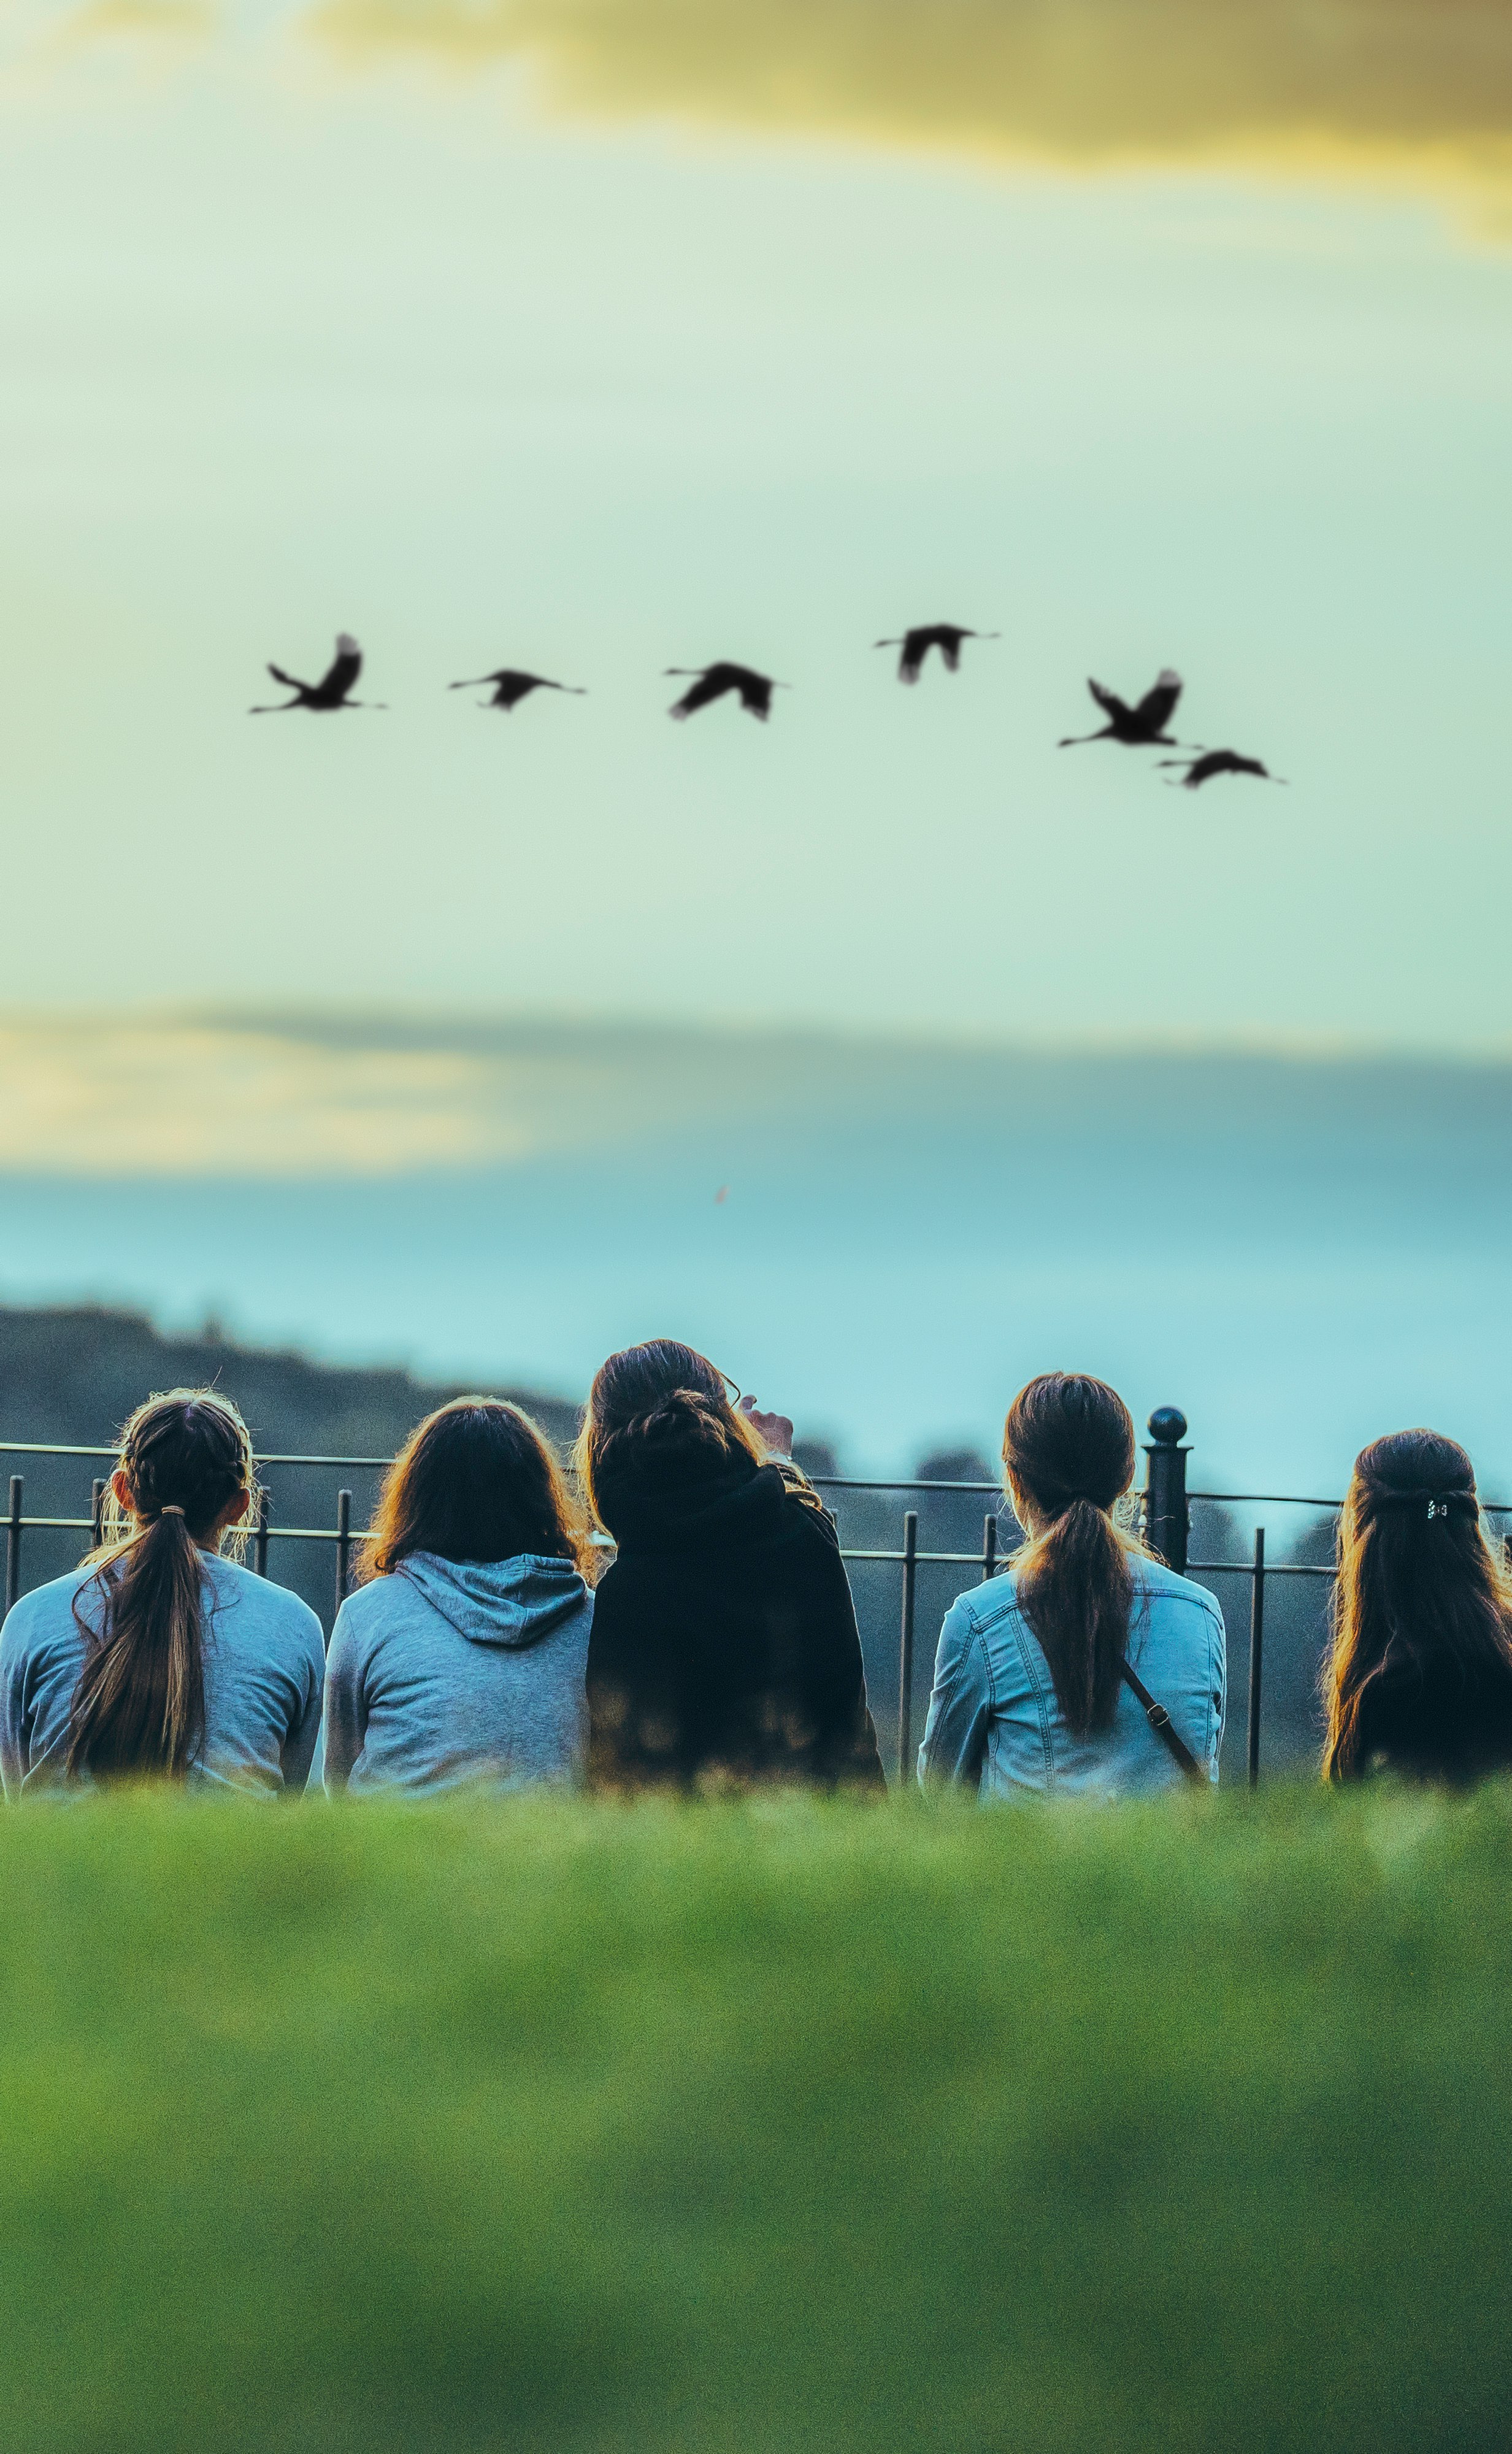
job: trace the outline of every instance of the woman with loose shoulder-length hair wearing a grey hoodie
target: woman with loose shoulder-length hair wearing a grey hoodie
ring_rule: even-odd
[[[395,1458],[326,1664],[326,1789],[577,1782],[592,1546],[545,1436],[459,1396]]]

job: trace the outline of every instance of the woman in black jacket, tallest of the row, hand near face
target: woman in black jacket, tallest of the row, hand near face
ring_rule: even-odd
[[[881,1787],[835,1521],[781,1416],[673,1337],[611,1355],[577,1465],[616,1553],[594,1598],[589,1779]]]

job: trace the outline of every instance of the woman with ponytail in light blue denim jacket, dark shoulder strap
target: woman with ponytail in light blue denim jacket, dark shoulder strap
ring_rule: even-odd
[[[920,1782],[982,1799],[1215,1782],[1222,1612],[1114,1521],[1134,1482],[1122,1396],[1080,1372],[1031,1379],[1004,1423],[1004,1477],[1028,1539],[945,1615]]]

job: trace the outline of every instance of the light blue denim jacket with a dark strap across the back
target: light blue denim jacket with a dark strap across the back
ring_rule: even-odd
[[[1215,1782],[1227,1693],[1222,1610],[1159,1561],[1129,1566],[1129,1661]],[[918,1779],[972,1784],[982,1799],[1127,1796],[1176,1789],[1181,1769],[1127,1686],[1109,1730],[1068,1730],[1009,1571],[945,1612]]]

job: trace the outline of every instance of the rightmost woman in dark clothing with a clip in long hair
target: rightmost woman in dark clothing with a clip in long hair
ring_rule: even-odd
[[[1463,1784],[1512,1764],[1512,1583],[1475,1467],[1436,1431],[1392,1431],[1355,1458],[1323,1701],[1330,1782]]]

